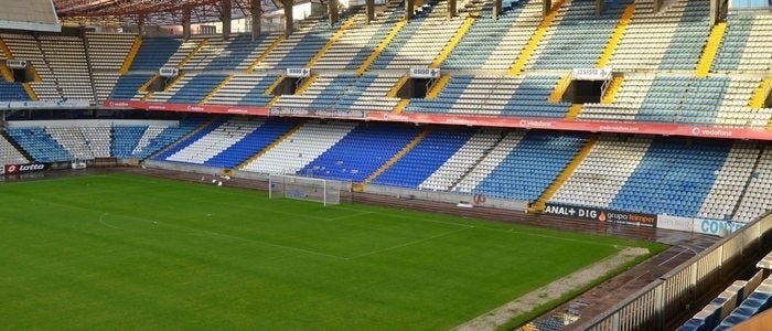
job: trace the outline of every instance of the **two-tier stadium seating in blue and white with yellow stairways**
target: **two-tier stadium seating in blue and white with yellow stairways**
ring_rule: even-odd
[[[752,229],[769,249],[769,4],[126,2],[54,0],[61,31],[2,26],[0,166],[312,177],[599,226]],[[772,306],[768,276],[715,280],[726,290],[686,322],[667,306],[581,325],[723,330]]]

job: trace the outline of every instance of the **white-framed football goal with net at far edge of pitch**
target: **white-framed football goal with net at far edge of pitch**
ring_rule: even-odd
[[[268,177],[268,197],[317,201],[324,205],[340,204],[341,188],[337,182],[323,179],[271,174]]]

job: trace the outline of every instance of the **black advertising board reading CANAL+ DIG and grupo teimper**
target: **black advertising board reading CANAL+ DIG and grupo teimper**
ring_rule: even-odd
[[[641,226],[657,226],[657,215],[613,211],[601,207],[583,207],[567,204],[547,203],[545,214],[569,218],[608,222],[614,224],[632,224]]]

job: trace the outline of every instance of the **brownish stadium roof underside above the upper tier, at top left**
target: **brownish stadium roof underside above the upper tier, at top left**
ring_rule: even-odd
[[[232,0],[234,19],[250,14],[250,0]],[[282,8],[282,0],[260,0],[262,11]],[[182,10],[191,8],[192,23],[219,21],[221,0],[53,0],[63,22],[101,22],[136,24],[140,14],[148,25],[174,25],[182,21]]]

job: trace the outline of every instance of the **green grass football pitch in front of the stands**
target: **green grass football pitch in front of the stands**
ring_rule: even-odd
[[[124,173],[0,184],[0,325],[447,330],[653,243]]]

